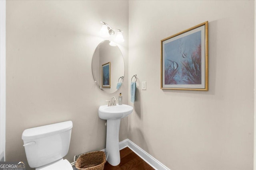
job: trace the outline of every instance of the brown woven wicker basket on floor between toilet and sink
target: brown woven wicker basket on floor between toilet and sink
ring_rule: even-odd
[[[106,163],[106,154],[103,151],[80,154],[75,166],[77,170],[103,170]]]

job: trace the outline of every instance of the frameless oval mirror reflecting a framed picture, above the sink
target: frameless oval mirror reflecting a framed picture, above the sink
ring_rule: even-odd
[[[102,41],[92,56],[92,74],[98,87],[106,93],[116,92],[124,78],[124,58],[118,46]]]

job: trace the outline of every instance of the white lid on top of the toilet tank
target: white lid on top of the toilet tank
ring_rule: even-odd
[[[26,129],[22,133],[23,140],[39,139],[46,136],[55,135],[72,129],[72,121],[64,121],[60,123],[54,123],[51,125],[45,125],[40,127],[34,127]]]

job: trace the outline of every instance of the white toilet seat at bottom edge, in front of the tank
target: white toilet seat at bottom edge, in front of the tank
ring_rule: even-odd
[[[36,170],[73,170],[73,168],[68,160],[60,159],[52,164],[36,168]]]

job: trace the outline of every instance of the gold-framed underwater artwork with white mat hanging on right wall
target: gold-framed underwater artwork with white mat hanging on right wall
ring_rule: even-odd
[[[208,91],[208,21],[161,40],[161,89]]]

